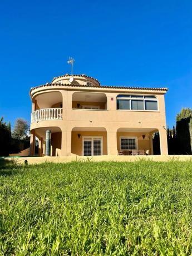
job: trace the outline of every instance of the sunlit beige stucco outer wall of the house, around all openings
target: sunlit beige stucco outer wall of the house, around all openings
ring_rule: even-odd
[[[155,91],[155,90],[141,90],[137,88],[104,88],[104,87],[76,87],[76,86],[61,86],[51,85],[46,87],[35,88],[31,92],[33,102],[37,95],[45,92],[56,92],[62,93],[63,103],[63,120],[44,120],[34,122],[31,124],[31,131],[36,130],[40,127],[60,127],[62,131],[61,139],[61,155],[68,156],[74,151],[72,141],[72,129],[74,127],[104,127],[107,131],[107,152],[109,155],[116,155],[118,150],[117,143],[117,130],[123,128],[129,129],[140,129],[142,130],[151,129],[151,131],[158,130],[160,132],[160,145],[161,154],[168,154],[167,139],[166,139],[166,119],[165,119],[165,102],[164,94],[166,91]],[[107,110],[83,110],[83,109],[72,109],[72,95],[75,92],[102,92],[107,97]],[[119,94],[137,94],[137,95],[154,95],[158,100],[159,109],[158,111],[133,111],[133,110],[117,110],[116,109],[116,97]],[[50,93],[51,96],[51,93]],[[38,104],[38,102],[37,102]],[[61,104],[61,102],[59,102]],[[93,105],[93,104],[91,104]],[[33,107],[34,109],[34,107]],[[77,132],[78,133],[78,132]],[[146,133],[145,133],[146,135]],[[77,136],[76,136],[77,137]],[[78,143],[76,141],[75,143]],[[149,143],[139,140],[139,146],[148,149]],[[81,147],[80,147],[81,149]],[[75,153],[74,153],[75,154]],[[78,154],[79,151],[78,151]],[[107,153],[106,153],[107,154]]]

